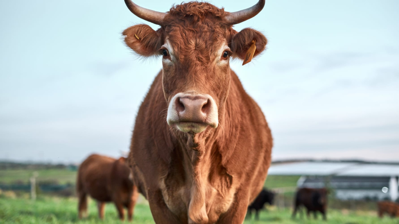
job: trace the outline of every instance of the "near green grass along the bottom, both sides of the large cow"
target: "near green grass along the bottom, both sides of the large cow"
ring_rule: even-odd
[[[105,220],[99,221],[95,202],[90,200],[88,218],[77,220],[77,200],[75,198],[39,198],[35,202],[29,199],[0,198],[1,224],[122,224],[112,204],[106,206]],[[153,224],[150,208],[146,202],[138,204],[134,211],[134,224]],[[332,210],[328,212],[328,221],[291,219],[291,210],[277,210],[260,213],[260,221],[246,220],[244,224],[399,224],[399,219],[377,218],[375,212],[349,212]],[[252,218],[253,219],[253,218]]]

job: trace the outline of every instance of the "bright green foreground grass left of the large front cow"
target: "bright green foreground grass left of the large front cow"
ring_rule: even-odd
[[[126,211],[125,211],[126,212]],[[138,204],[135,208],[135,224],[153,224],[149,206]],[[82,221],[77,219],[76,198],[39,198],[29,199],[0,198],[0,224],[122,224],[114,205],[105,207],[105,219],[98,218],[94,200],[90,200],[88,217]]]

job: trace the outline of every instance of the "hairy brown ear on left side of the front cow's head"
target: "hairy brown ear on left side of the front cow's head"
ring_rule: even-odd
[[[149,25],[139,24],[125,29],[122,33],[125,43],[137,54],[150,57],[159,54],[161,48],[161,34]]]

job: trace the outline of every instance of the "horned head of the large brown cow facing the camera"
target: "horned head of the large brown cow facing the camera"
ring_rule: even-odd
[[[250,28],[237,32],[232,25],[255,16],[265,1],[237,12],[225,12],[206,2],[188,2],[167,13],[125,2],[135,15],[161,25],[157,31],[145,24],[135,25],[123,35],[137,54],[162,56],[168,124],[194,133],[216,128],[230,88],[230,58],[244,60],[251,44],[256,45],[256,56],[267,43],[260,32]]]

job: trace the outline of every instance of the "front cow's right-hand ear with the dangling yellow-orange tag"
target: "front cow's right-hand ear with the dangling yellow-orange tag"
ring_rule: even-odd
[[[256,57],[266,48],[267,39],[261,32],[251,28],[245,28],[238,33],[235,33],[232,37],[232,56],[244,60],[246,52],[252,45],[252,40],[256,41],[256,50],[253,57]]]

